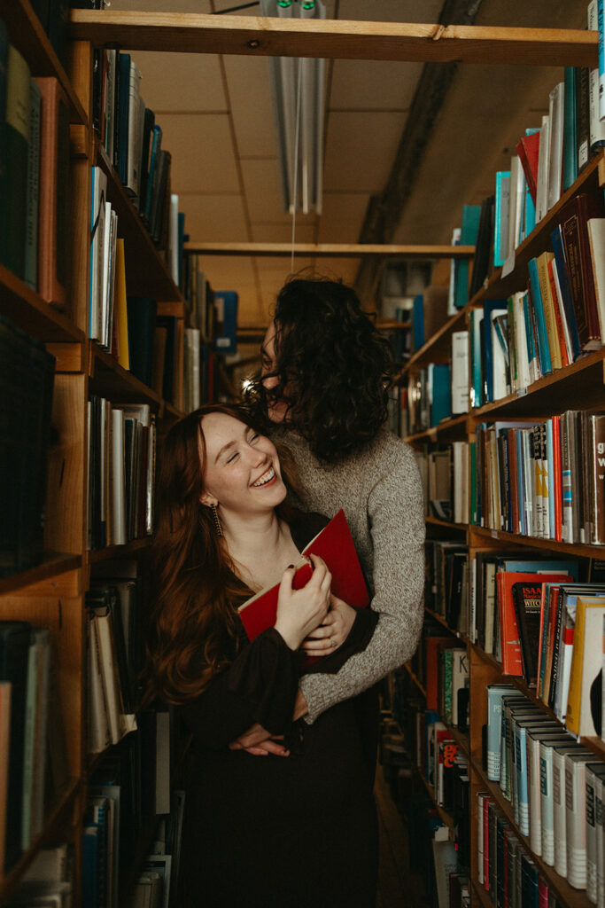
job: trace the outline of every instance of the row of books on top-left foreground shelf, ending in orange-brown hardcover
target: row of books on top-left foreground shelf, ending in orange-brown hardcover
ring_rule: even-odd
[[[69,297],[69,106],[35,77],[0,19],[0,262],[45,301]]]

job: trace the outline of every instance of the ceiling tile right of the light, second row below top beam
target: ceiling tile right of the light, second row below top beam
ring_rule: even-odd
[[[324,189],[380,192],[386,182],[406,114],[329,114]]]

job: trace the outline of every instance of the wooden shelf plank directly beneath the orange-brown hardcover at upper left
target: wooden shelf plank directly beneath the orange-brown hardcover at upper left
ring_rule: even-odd
[[[84,333],[12,271],[0,265],[0,312],[38,341],[79,342]]]

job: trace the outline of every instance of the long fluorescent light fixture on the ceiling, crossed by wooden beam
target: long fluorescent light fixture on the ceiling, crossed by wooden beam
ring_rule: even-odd
[[[282,19],[326,18],[321,0],[260,0],[260,10]],[[269,66],[286,211],[320,214],[326,61],[271,57]]]

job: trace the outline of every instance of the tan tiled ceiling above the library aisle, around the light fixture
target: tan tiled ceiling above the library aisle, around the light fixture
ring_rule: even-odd
[[[213,13],[236,0],[112,0],[112,10]],[[329,0],[328,17],[436,22],[443,0]],[[238,15],[259,15],[258,7]],[[586,0],[483,0],[477,25],[581,27]],[[133,54],[141,94],[171,151],[171,189],[193,241],[289,242],[270,105],[268,60],[206,54]],[[422,64],[330,61],[324,211],[297,215],[298,242],[357,242],[372,194],[382,192]],[[449,242],[464,202],[493,192],[525,125],[548,107],[561,71],[460,67],[393,242]],[[536,113],[533,113],[536,112]],[[529,119],[528,119],[529,118]],[[508,152],[503,149],[508,148]],[[296,259],[294,270],[315,262]],[[318,260],[354,281],[358,260]],[[239,323],[268,321],[290,260],[206,257],[215,289],[239,291]]]

